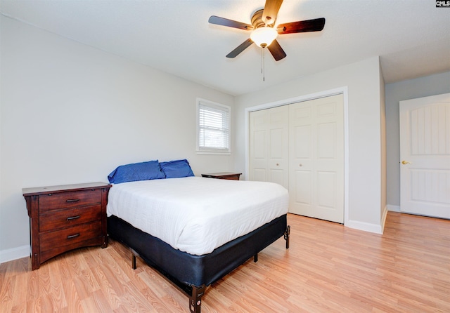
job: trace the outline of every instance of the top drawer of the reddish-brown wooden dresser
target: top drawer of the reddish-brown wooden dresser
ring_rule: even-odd
[[[101,203],[101,189],[41,194],[39,196],[39,213],[59,208],[75,208],[88,204]]]

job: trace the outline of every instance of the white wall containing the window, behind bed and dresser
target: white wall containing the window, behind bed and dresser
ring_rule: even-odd
[[[108,182],[120,165],[186,158],[196,175],[231,156],[195,154],[195,98],[231,95],[0,15],[0,262],[29,252],[23,187]]]

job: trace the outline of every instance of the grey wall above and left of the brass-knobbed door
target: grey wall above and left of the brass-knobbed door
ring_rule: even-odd
[[[442,93],[450,93],[450,72],[386,85],[387,204],[394,211],[400,206],[399,102]]]

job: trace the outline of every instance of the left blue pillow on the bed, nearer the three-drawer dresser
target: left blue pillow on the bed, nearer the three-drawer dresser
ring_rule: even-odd
[[[158,160],[118,166],[108,175],[111,183],[135,182],[136,180],[158,180],[166,178]]]

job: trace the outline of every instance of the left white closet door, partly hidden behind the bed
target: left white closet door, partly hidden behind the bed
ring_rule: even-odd
[[[288,189],[288,130],[288,106],[250,112],[250,180]]]

